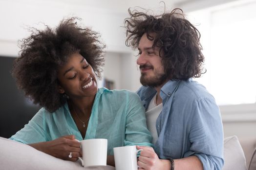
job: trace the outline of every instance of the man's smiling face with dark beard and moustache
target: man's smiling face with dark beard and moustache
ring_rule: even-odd
[[[153,41],[147,38],[145,33],[139,42],[139,58],[137,64],[140,66],[141,77],[140,82],[145,86],[158,87],[164,85],[167,76],[164,73],[162,59],[159,56],[159,49],[152,49]]]

